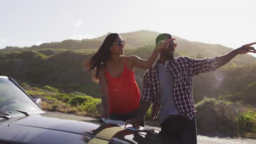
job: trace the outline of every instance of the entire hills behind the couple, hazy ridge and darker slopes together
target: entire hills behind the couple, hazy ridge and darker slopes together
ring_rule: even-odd
[[[123,39],[129,41],[130,47],[144,44],[139,48],[127,48],[125,55],[147,58],[154,49],[153,39],[158,34],[150,31],[120,34]],[[104,37],[106,35],[95,39],[64,40],[60,43],[46,43],[32,47],[7,47],[0,50],[0,75],[12,76],[19,82],[27,82],[39,88],[49,85],[64,92],[83,92],[100,98],[99,86],[91,81],[91,72],[83,70],[83,62],[97,51],[96,47],[101,45]],[[176,43],[178,43],[176,57],[179,55],[195,58],[214,57],[232,50],[222,45],[203,44],[173,37],[177,38]],[[136,41],[141,41],[141,43],[136,43]],[[87,47],[84,48],[83,45]],[[250,55],[237,56],[216,72],[195,77],[194,100],[198,102],[203,97],[217,98],[228,91],[237,93],[237,90],[249,89],[249,85],[255,83],[256,79],[255,62],[256,58]],[[136,69],[135,72],[138,86],[142,89],[142,77],[145,70]],[[236,85],[229,85],[230,82]],[[209,88],[202,88],[205,86]]]

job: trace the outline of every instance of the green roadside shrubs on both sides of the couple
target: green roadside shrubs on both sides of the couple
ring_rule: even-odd
[[[63,93],[60,89],[44,86],[42,89],[22,83],[21,87],[33,98],[42,99],[42,108],[48,111],[72,113],[78,116],[100,118],[101,99],[80,92]],[[197,131],[206,135],[238,136],[256,139],[256,109],[251,105],[204,98],[196,104]],[[145,120],[152,121],[150,109]]]

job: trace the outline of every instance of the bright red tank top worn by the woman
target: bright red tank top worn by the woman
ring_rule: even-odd
[[[110,76],[107,68],[105,74],[108,82],[109,113],[129,113],[138,109],[141,93],[135,81],[134,71],[127,68],[126,57],[120,77]]]

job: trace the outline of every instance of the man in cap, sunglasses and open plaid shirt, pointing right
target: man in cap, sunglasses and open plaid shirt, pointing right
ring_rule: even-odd
[[[166,39],[172,39],[171,35],[160,34],[155,43]],[[174,58],[177,44],[174,40],[171,41],[167,49],[160,51],[158,61],[144,74],[138,117],[131,123],[136,127],[150,104],[153,104],[152,118],[155,119],[158,113],[160,114],[161,136],[165,140],[164,143],[170,143],[170,140],[178,143],[197,143],[196,111],[192,95],[193,76],[214,71],[238,54],[256,53],[251,47],[253,44],[256,43],[243,45],[223,56],[194,59],[183,56]]]

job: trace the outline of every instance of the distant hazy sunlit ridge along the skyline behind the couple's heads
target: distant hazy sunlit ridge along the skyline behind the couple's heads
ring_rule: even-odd
[[[109,34],[109,33],[108,33]],[[95,39],[83,39],[83,40],[63,40],[61,42],[44,43],[39,46],[33,45],[31,47],[11,47],[7,46],[5,49],[1,49],[0,52],[14,52],[25,50],[39,50],[39,49],[65,49],[65,50],[86,50],[86,49],[98,49],[101,46],[102,41],[106,36],[98,37]],[[136,31],[130,33],[121,33],[121,37],[127,41],[126,49],[137,49],[145,45],[155,45],[155,38],[160,33],[151,31]],[[178,44],[176,52],[179,55],[185,55],[190,57],[214,57],[228,53],[232,49],[219,44],[204,44],[196,41],[189,41],[173,35],[176,38]],[[234,64],[249,65],[255,62],[255,57],[251,55],[237,56],[232,60]]]

